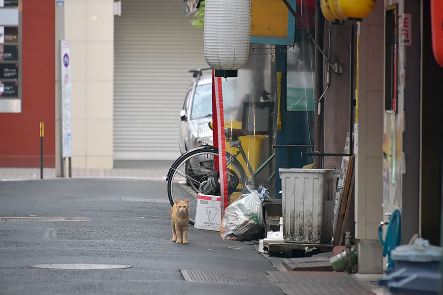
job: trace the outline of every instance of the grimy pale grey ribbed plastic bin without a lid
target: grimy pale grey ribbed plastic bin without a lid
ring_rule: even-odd
[[[285,242],[330,244],[338,170],[279,169]]]

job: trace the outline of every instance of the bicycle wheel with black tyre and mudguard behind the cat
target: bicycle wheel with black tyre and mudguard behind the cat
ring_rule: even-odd
[[[168,198],[171,206],[175,199],[189,202],[189,222],[194,224],[198,194],[215,174],[215,157],[219,155],[214,147],[199,147],[189,150],[171,166],[168,174]],[[227,166],[239,177],[238,188],[244,183],[245,172],[240,163],[233,159]],[[237,189],[237,188],[234,188]]]

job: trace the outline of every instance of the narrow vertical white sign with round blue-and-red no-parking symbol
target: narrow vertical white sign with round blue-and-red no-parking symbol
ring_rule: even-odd
[[[62,58],[62,132],[63,145],[62,156],[70,157],[71,150],[71,67],[70,67],[70,43],[61,41]]]

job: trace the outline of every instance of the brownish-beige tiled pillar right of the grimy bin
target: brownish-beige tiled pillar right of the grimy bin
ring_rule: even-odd
[[[383,1],[360,26],[358,150],[355,174],[355,237],[377,240],[382,214]],[[381,258],[380,258],[381,259]]]

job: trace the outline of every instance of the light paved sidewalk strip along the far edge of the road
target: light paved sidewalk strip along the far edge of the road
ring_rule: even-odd
[[[141,162],[141,164],[140,164]],[[172,161],[120,161],[114,169],[72,169],[72,178],[120,178],[164,181]],[[56,179],[55,168],[43,168],[43,179]],[[66,178],[68,176],[66,175]],[[0,168],[0,181],[37,180],[40,168]]]

